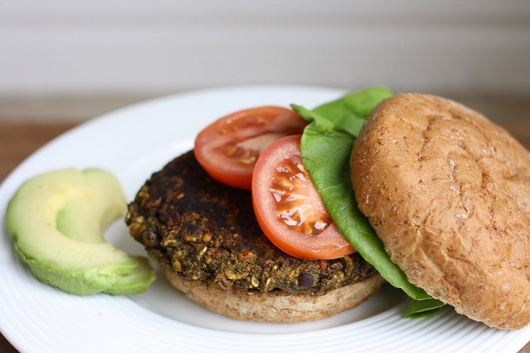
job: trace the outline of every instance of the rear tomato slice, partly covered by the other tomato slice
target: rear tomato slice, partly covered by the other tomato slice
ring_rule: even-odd
[[[254,164],[271,143],[302,133],[307,121],[284,107],[256,107],[223,116],[195,139],[195,157],[213,179],[250,189]]]

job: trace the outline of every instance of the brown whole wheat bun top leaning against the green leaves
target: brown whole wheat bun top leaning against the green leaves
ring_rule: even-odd
[[[464,105],[401,94],[351,155],[355,198],[418,287],[491,327],[530,321],[530,155]]]

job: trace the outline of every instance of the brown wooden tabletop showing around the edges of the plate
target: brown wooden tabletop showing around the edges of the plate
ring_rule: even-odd
[[[73,123],[6,123],[0,121],[0,181],[26,157],[42,145],[73,128]],[[530,147],[530,130],[519,128],[518,124],[505,126],[524,145]],[[1,313],[0,313],[1,315]],[[0,352],[17,353],[18,351],[0,335]],[[519,353],[530,353],[530,343]]]

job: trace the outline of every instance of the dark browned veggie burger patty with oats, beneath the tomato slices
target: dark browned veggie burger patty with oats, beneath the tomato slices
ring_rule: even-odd
[[[163,268],[220,289],[326,294],[377,275],[358,253],[309,261],[278,249],[258,225],[251,192],[211,179],[193,151],[146,181],[125,222]]]

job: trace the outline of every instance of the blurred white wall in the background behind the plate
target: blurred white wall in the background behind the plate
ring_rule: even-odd
[[[0,97],[245,83],[530,94],[530,0],[0,0]]]

